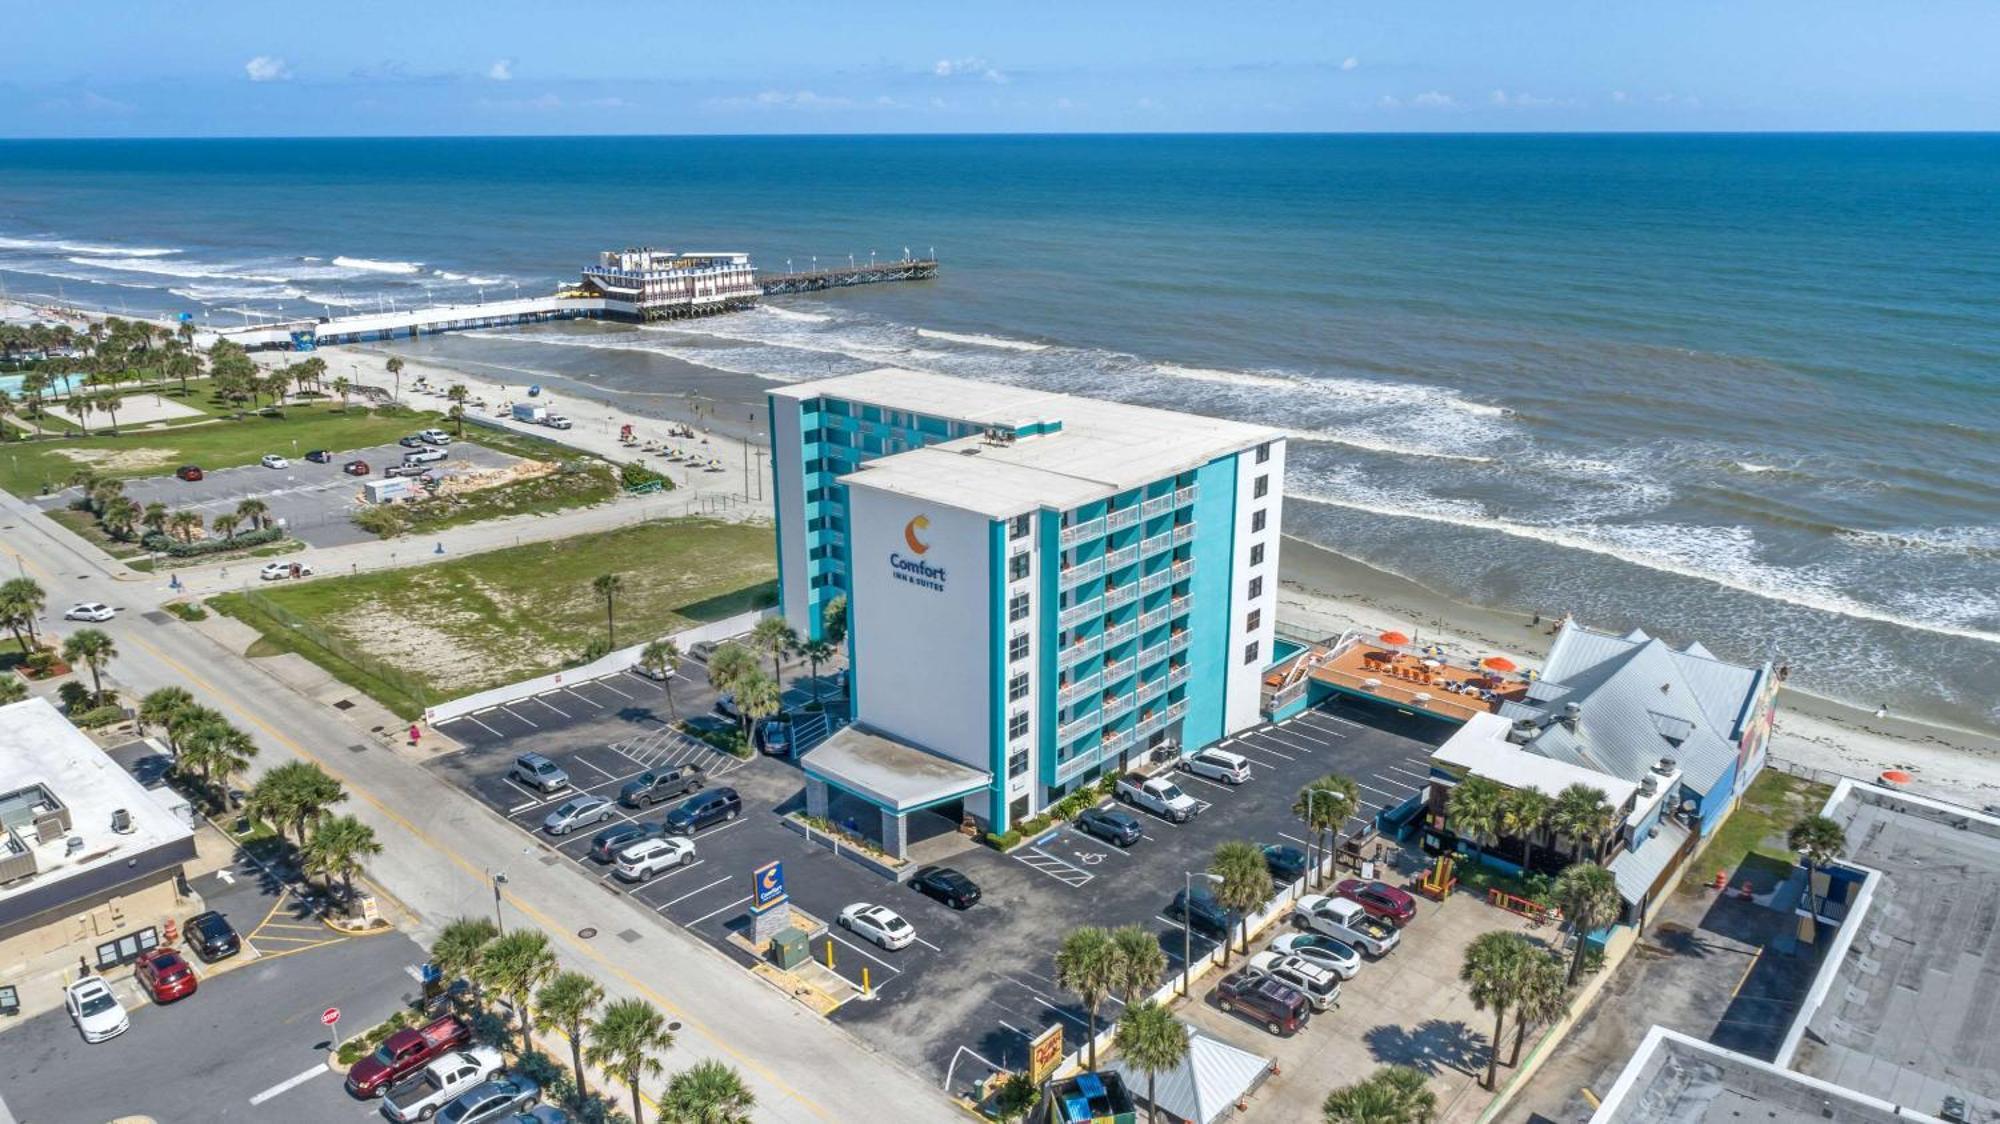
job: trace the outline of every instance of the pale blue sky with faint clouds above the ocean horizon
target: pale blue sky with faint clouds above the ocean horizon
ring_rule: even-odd
[[[8,4],[0,136],[1986,130],[2000,4]]]

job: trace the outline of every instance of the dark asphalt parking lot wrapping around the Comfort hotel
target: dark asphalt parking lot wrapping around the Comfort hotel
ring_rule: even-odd
[[[786,684],[788,708],[810,698],[810,684],[790,668]],[[782,814],[802,802],[802,778],[790,760],[736,760],[668,732],[674,714],[702,716],[712,704],[714,692],[692,660],[672,680],[672,706],[662,684],[634,672],[578,682],[440,724],[462,748],[432,768],[476,792],[540,844],[538,854],[518,862],[572,864],[578,876],[642,902],[664,924],[688,930],[742,964],[748,956],[730,934],[746,924],[750,872],[764,862],[786,864],[792,904],[822,922],[854,902],[892,906],[916,928],[918,940],[908,948],[884,952],[838,928],[812,942],[820,962],[832,944],[834,972],[856,990],[866,970],[870,994],[856,994],[832,1018],[934,1080],[950,1074],[954,1088],[976,1082],[988,1066],[1020,1066],[1028,1040],[1048,1024],[1064,1024],[1072,1046],[1082,1040],[1088,1016],[1052,978],[1052,956],[1064,934],[1088,924],[1138,924],[1160,940],[1170,972],[1180,972],[1184,944],[1194,958],[1212,948],[1208,938],[1186,934],[1164,914],[1186,872],[1206,870],[1216,846],[1228,840],[1304,848],[1306,832],[1292,802],[1308,780],[1328,772],[1360,784],[1362,804],[1348,822],[1348,830],[1358,830],[1376,812],[1420,792],[1430,752],[1422,740],[1378,730],[1338,710],[1312,710],[1256,728],[1222,744],[1250,760],[1246,784],[1176,774],[1204,802],[1202,814],[1188,824],[1140,814],[1146,834],[1130,850],[1070,826],[1050,828],[1012,854],[972,840],[936,840],[934,846],[958,844],[946,862],[982,888],[982,902],[960,914],[784,826]],[[560,764],[572,788],[540,794],[508,780],[508,766],[528,750]],[[744,798],[742,818],[694,836],[696,858],[688,866],[628,886],[588,858],[596,826],[562,838],[540,830],[548,810],[578,792],[616,800],[640,772],[688,760],[708,766],[710,788],[728,784]],[[614,818],[658,820],[668,810],[670,804],[644,812],[618,808]],[[1116,1014],[1118,1002],[1108,1000],[1100,1018]],[[1260,1032],[1246,1026],[1240,1034]]]

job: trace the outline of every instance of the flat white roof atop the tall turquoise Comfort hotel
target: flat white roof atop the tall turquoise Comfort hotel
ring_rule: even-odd
[[[882,456],[844,478],[848,486],[990,516],[1074,508],[1284,438],[1270,426],[898,368],[798,382],[772,394],[844,398],[1006,430],[1062,422],[1060,432],[1008,444],[970,436]]]

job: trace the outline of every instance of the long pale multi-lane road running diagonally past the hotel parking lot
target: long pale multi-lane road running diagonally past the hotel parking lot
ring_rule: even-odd
[[[110,674],[128,698],[184,686],[258,742],[256,772],[310,760],[340,778],[352,794],[344,810],[372,826],[384,846],[370,870],[388,894],[420,912],[420,940],[454,916],[492,910],[488,872],[504,868],[508,924],[548,932],[564,962],[596,976],[610,998],[658,1004],[682,1024],[664,1058],[668,1070],[706,1058],[736,1066],[756,1092],[760,1120],[862,1120],[884,1104],[896,1104],[906,1120],[958,1114],[936,1086],[716,950],[650,924],[630,900],[554,866],[560,860],[538,858],[504,818],[346,724],[338,710],[300,698],[240,654],[150,612],[166,596],[162,584],[114,582],[114,564],[14,496],[0,496],[0,532],[16,554],[6,562],[42,584],[52,616],[74,600],[122,610],[102,628],[118,646]]]

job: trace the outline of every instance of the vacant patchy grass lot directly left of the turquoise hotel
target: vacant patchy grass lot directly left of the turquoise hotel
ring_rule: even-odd
[[[604,638],[598,574],[618,574],[618,644],[776,604],[768,526],[660,520],[470,558],[208,598],[402,716],[560,670]]]

